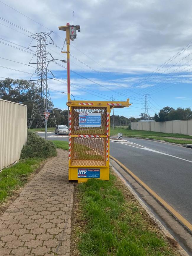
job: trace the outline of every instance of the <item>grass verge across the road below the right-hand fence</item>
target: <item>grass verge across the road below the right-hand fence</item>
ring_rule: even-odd
[[[155,136],[155,137],[175,137],[175,138],[187,138],[192,140],[192,136],[183,135],[178,133],[163,133],[163,132],[151,132],[151,131],[137,131],[128,130],[123,128],[115,128],[114,130],[110,127],[110,135],[117,135],[118,132],[122,132],[124,135],[144,135],[144,136]]]

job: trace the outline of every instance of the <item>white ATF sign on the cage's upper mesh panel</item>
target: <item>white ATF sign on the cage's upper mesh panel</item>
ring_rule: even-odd
[[[101,113],[79,113],[79,127],[101,127]]]

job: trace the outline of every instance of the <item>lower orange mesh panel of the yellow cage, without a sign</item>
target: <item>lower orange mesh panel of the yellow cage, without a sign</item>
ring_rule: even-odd
[[[105,166],[106,138],[71,138],[71,165]]]

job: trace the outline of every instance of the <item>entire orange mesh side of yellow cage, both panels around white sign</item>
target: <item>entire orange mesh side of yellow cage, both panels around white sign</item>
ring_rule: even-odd
[[[79,127],[80,113],[100,113],[101,127]],[[71,135],[106,135],[107,107],[72,107]],[[71,137],[72,166],[105,166],[105,137]]]

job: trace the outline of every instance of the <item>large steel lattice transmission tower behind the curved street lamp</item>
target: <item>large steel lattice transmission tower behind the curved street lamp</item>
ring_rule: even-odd
[[[45,108],[46,58],[49,54],[46,51],[46,45],[47,45],[46,44],[46,39],[48,38],[48,36],[51,33],[52,33],[52,31],[41,32],[41,33],[36,33],[36,34],[30,35],[31,38],[37,40],[37,45],[36,46],[29,46],[29,47],[37,47],[37,51],[34,54],[34,56],[37,57],[37,62],[36,63],[30,63],[30,64],[37,64],[37,69],[34,72],[34,74],[37,75],[37,80],[30,80],[30,81],[37,81],[37,86],[36,86],[36,89],[35,89],[35,97],[34,97],[34,101],[33,101],[33,108],[32,108],[29,128],[32,126],[32,124],[35,124],[36,128],[37,127],[42,128],[43,126],[45,126],[44,112],[47,112],[48,109],[53,109],[53,103],[51,102],[51,96],[50,96],[48,88],[47,88],[47,98],[48,98],[48,107],[47,108],[48,109]],[[50,43],[48,43],[48,44],[50,44]],[[53,75],[52,72],[51,72],[51,74]],[[54,78],[54,75],[53,75],[52,78]],[[48,78],[48,79],[52,79],[52,78]],[[49,123],[52,122],[56,126],[56,119],[55,119],[55,114],[54,114],[53,110],[50,113],[48,121],[49,121]]]

